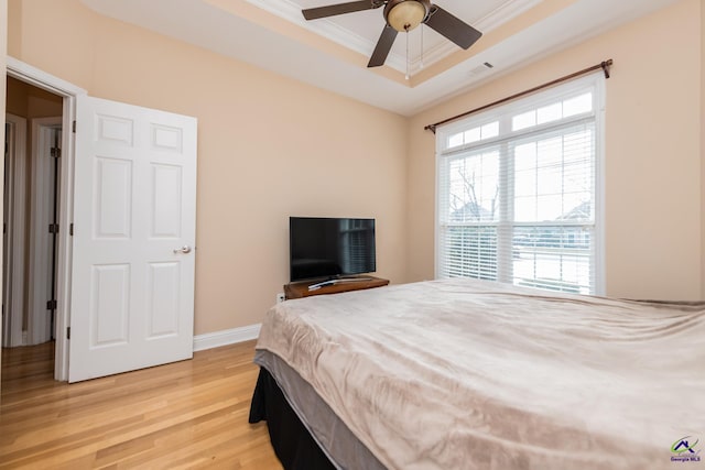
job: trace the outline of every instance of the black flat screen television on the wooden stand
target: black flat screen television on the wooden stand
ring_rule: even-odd
[[[290,217],[289,249],[292,282],[371,273],[375,219]]]

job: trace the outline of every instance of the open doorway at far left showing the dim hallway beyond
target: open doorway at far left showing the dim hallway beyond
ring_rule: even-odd
[[[61,96],[13,77],[6,92],[2,347],[26,348],[55,339],[64,109]]]

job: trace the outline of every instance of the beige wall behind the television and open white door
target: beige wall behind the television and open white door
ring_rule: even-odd
[[[198,118],[196,335],[260,323],[289,278],[288,217],[375,217],[405,281],[405,120],[94,14],[10,0],[9,54],[89,95]],[[61,48],[45,31],[62,25]]]

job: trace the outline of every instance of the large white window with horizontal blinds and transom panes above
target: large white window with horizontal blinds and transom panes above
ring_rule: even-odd
[[[601,294],[604,79],[437,131],[436,276]]]

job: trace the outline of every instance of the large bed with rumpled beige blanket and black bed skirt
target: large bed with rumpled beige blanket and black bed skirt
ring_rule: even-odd
[[[431,281],[278,304],[256,349],[250,422],[286,469],[668,469],[705,448],[704,303]]]

